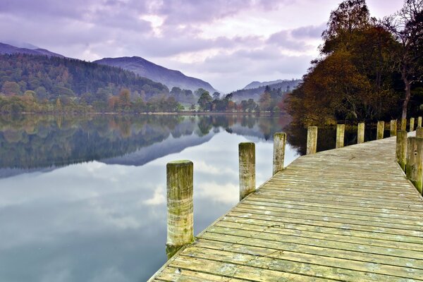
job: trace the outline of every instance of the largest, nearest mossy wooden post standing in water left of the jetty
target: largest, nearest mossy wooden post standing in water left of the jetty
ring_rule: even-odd
[[[171,161],[167,174],[167,240],[166,254],[173,257],[183,245],[194,240],[193,164]]]

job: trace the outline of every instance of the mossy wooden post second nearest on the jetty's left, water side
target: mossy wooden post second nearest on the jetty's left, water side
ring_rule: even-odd
[[[238,146],[240,159],[240,200],[255,191],[255,144],[242,142]]]

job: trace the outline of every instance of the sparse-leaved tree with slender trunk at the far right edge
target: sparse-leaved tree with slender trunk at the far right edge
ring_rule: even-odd
[[[393,53],[405,85],[402,118],[407,118],[411,87],[423,77],[423,0],[405,0],[400,11],[384,18],[384,25],[399,42]]]

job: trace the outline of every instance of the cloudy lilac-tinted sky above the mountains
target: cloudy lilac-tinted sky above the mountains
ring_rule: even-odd
[[[301,78],[341,0],[1,0],[0,42],[94,61],[142,56],[221,92]],[[367,0],[372,16],[403,0]]]

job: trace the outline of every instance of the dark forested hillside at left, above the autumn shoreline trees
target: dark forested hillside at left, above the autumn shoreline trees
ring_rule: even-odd
[[[166,85],[121,68],[63,56],[0,55],[0,92],[6,96],[32,90],[38,99],[51,100],[59,96],[81,97],[88,92],[89,104],[94,100],[106,103],[108,97],[117,95],[123,87],[143,99],[168,94]]]

